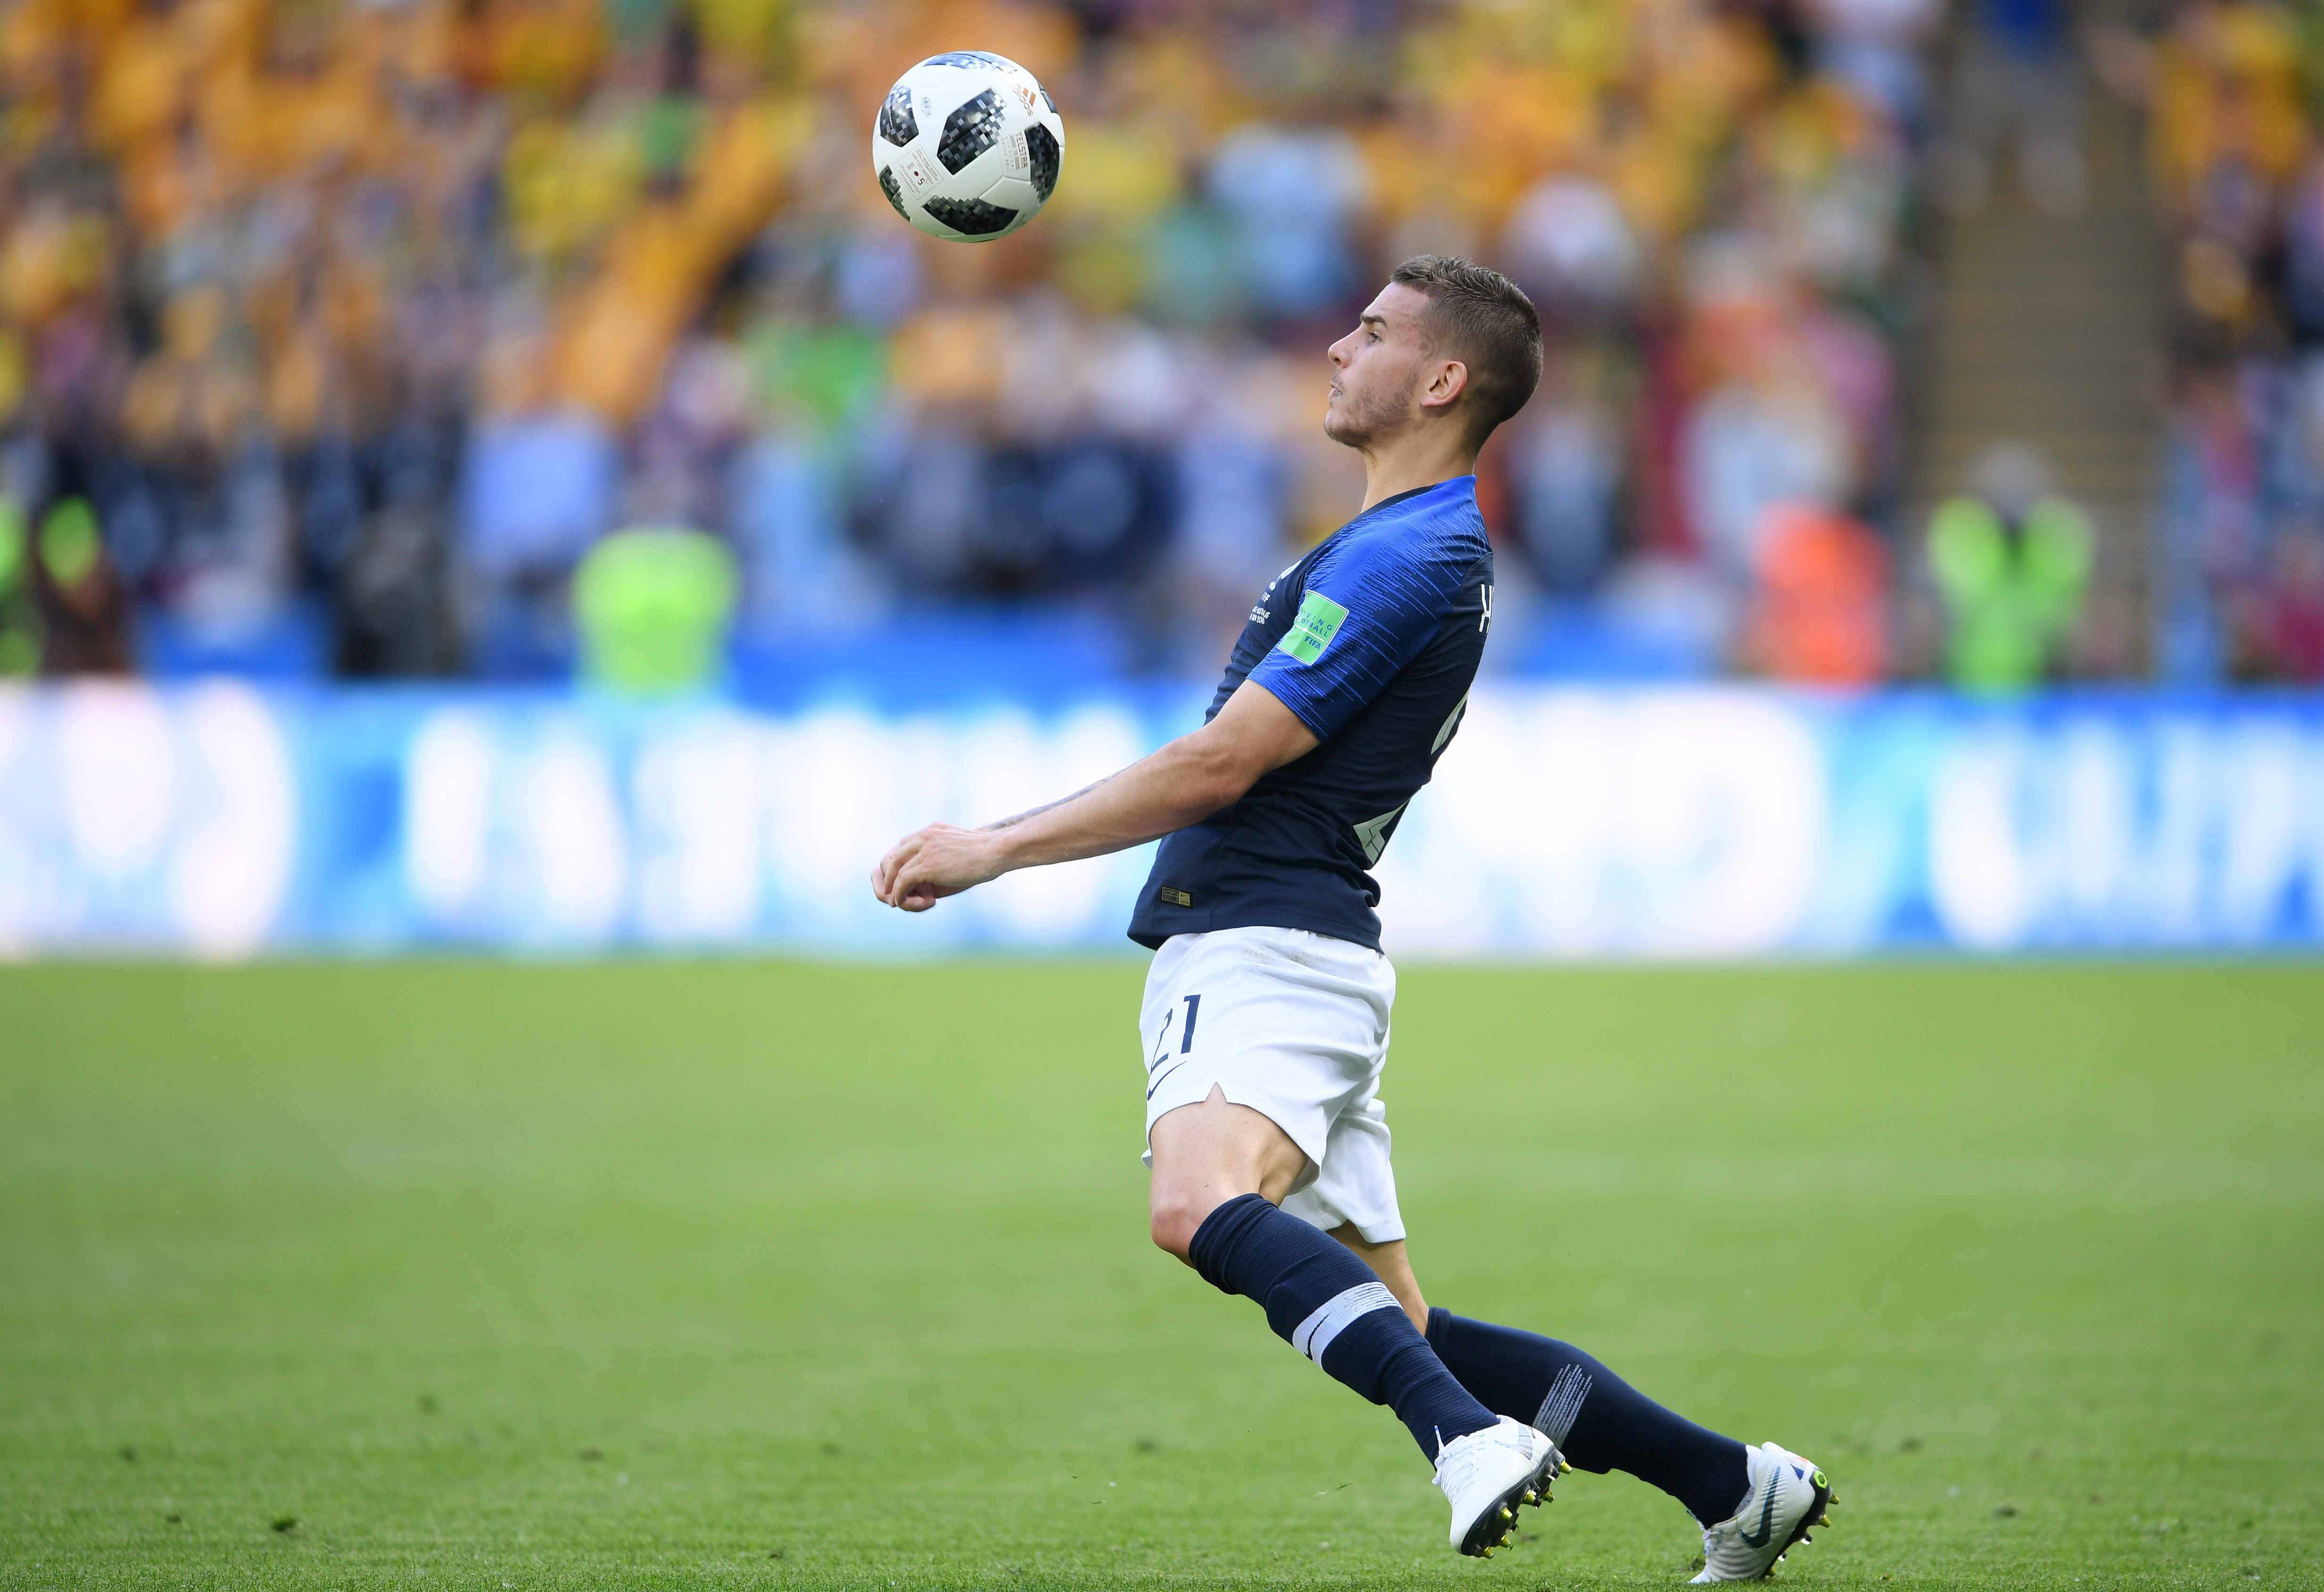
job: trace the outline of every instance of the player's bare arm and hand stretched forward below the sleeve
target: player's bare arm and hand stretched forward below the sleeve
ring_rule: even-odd
[[[1264,686],[1243,681],[1202,730],[1062,802],[983,830],[932,823],[871,869],[871,895],[927,911],[1020,867],[1125,851],[1232,806],[1262,774],[1315,751],[1315,734]]]

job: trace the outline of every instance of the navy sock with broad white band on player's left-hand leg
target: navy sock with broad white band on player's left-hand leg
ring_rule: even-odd
[[[1188,1257],[1220,1292],[1257,1299],[1278,1339],[1394,1408],[1432,1464],[1441,1443],[1494,1425],[1355,1250],[1260,1195],[1211,1211]]]

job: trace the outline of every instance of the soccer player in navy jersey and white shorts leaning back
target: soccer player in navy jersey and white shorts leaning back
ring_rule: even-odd
[[[927,911],[1011,869],[1162,839],[1129,937],[1153,1241],[1436,1464],[1452,1546],[1490,1555],[1571,1464],[1638,1476],[1703,1529],[1697,1580],[1766,1576],[1831,1504],[1799,1455],[1706,1432],[1557,1339],[1429,1308],[1387,1160],[1397,976],[1380,860],[1459,730],[1492,630],[1476,453],[1541,379],[1541,318],[1499,272],[1420,256],[1332,344],[1325,435],[1364,509],[1250,609],[1202,730],[1002,823],[930,825],[871,874]]]

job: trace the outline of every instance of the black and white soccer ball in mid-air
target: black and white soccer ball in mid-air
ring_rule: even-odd
[[[955,49],[904,77],[871,123],[871,170],[895,214],[930,237],[990,244],[1057,188],[1064,119],[1032,72]]]

